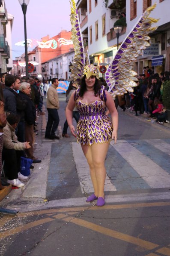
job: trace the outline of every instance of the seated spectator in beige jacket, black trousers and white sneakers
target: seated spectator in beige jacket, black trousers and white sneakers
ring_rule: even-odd
[[[4,171],[8,177],[7,182],[16,187],[23,187],[20,180],[28,179],[20,173],[20,158],[23,150],[30,148],[30,142],[18,142],[15,129],[19,123],[19,116],[9,114],[6,118],[7,124],[3,128],[3,153]],[[9,160],[10,159],[10,160]]]

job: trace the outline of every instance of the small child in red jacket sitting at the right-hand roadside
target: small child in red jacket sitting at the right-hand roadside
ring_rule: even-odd
[[[158,99],[154,100],[154,105],[156,109],[152,112],[152,114],[157,117],[155,122],[158,122],[158,124],[163,124],[163,121],[165,122],[167,119],[167,111],[164,108],[164,105]]]

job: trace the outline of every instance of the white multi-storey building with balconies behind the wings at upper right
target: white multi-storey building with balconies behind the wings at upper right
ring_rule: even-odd
[[[117,51],[117,38],[114,23],[121,12],[126,13],[127,26],[119,35],[119,45],[131,31],[147,7],[157,3],[150,16],[160,19],[158,29],[150,34],[150,43],[159,43],[158,58],[162,56],[162,65],[155,66],[155,73],[170,71],[170,0],[78,0],[77,7],[84,43],[88,47],[90,60],[98,65],[107,65]],[[161,58],[161,57],[160,57]],[[134,65],[138,74],[143,66],[152,66],[152,56],[140,56]]]

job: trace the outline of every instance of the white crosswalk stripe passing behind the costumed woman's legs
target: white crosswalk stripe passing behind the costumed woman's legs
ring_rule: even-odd
[[[81,145],[77,142],[72,142],[72,151],[75,159],[76,169],[78,171],[79,182],[82,193],[94,192],[92,181],[89,174],[89,166],[86,157],[83,154]],[[106,175],[104,191],[116,191],[116,187],[112,184],[109,177]]]

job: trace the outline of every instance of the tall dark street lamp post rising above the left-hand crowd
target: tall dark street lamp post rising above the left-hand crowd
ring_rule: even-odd
[[[28,77],[28,52],[27,52],[27,27],[26,27],[26,12],[27,12],[27,5],[29,4],[30,0],[18,0],[22,7],[22,12],[24,14],[24,36],[25,36],[25,71],[26,77]]]

